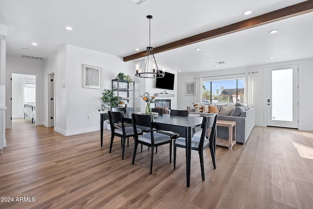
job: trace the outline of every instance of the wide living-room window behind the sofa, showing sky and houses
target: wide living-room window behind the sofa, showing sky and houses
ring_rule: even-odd
[[[243,103],[245,79],[202,81],[202,102]]]

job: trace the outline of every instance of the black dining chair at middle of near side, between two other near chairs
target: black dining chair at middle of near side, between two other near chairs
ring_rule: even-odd
[[[163,144],[170,144],[170,163],[172,163],[172,139],[164,134],[159,134],[153,131],[150,131],[147,134],[139,135],[137,133],[137,125],[139,126],[147,126],[153,130],[153,116],[152,115],[143,115],[143,114],[132,114],[133,118],[133,128],[134,128],[134,153],[133,153],[133,161],[135,162],[136,151],[138,144],[143,144],[148,147],[151,147],[151,156],[150,156],[150,174],[152,174],[152,165],[153,165],[153,153],[154,148]]]

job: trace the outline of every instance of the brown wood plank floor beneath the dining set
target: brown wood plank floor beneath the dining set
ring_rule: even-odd
[[[121,160],[120,139],[110,154],[110,137],[105,130],[101,147],[99,131],[65,137],[14,119],[0,155],[0,208],[312,208],[313,132],[254,127],[245,145],[217,147],[216,169],[204,151],[205,181],[192,151],[189,188],[184,149],[178,148],[174,170],[168,145],[158,147],[149,175],[146,147],[132,165],[133,139]],[[17,202],[20,197],[27,202]]]

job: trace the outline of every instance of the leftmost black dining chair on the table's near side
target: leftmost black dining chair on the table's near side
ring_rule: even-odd
[[[111,126],[111,142],[110,142],[110,153],[112,151],[112,145],[114,136],[121,138],[121,146],[122,146],[122,160],[124,160],[124,150],[125,150],[125,141],[127,138],[127,141],[129,141],[130,137],[134,137],[134,129],[131,126],[125,126],[124,125],[124,112],[113,112],[109,111],[109,120],[110,120],[110,126]],[[119,123],[121,125],[121,128],[116,128],[115,124]],[[138,129],[136,131],[137,135],[141,135],[142,131],[141,129]]]

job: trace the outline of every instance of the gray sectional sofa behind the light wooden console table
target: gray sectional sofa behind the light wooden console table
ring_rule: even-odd
[[[217,104],[218,110],[227,104]],[[191,110],[190,114],[200,114],[200,116],[205,116],[210,113],[197,113],[195,110]],[[222,116],[218,115],[218,120],[231,120],[236,121],[236,141],[244,144],[248,139],[254,125],[255,125],[255,109],[249,108],[245,110],[240,116]],[[217,127],[217,136],[221,138],[228,138],[228,127]]]

